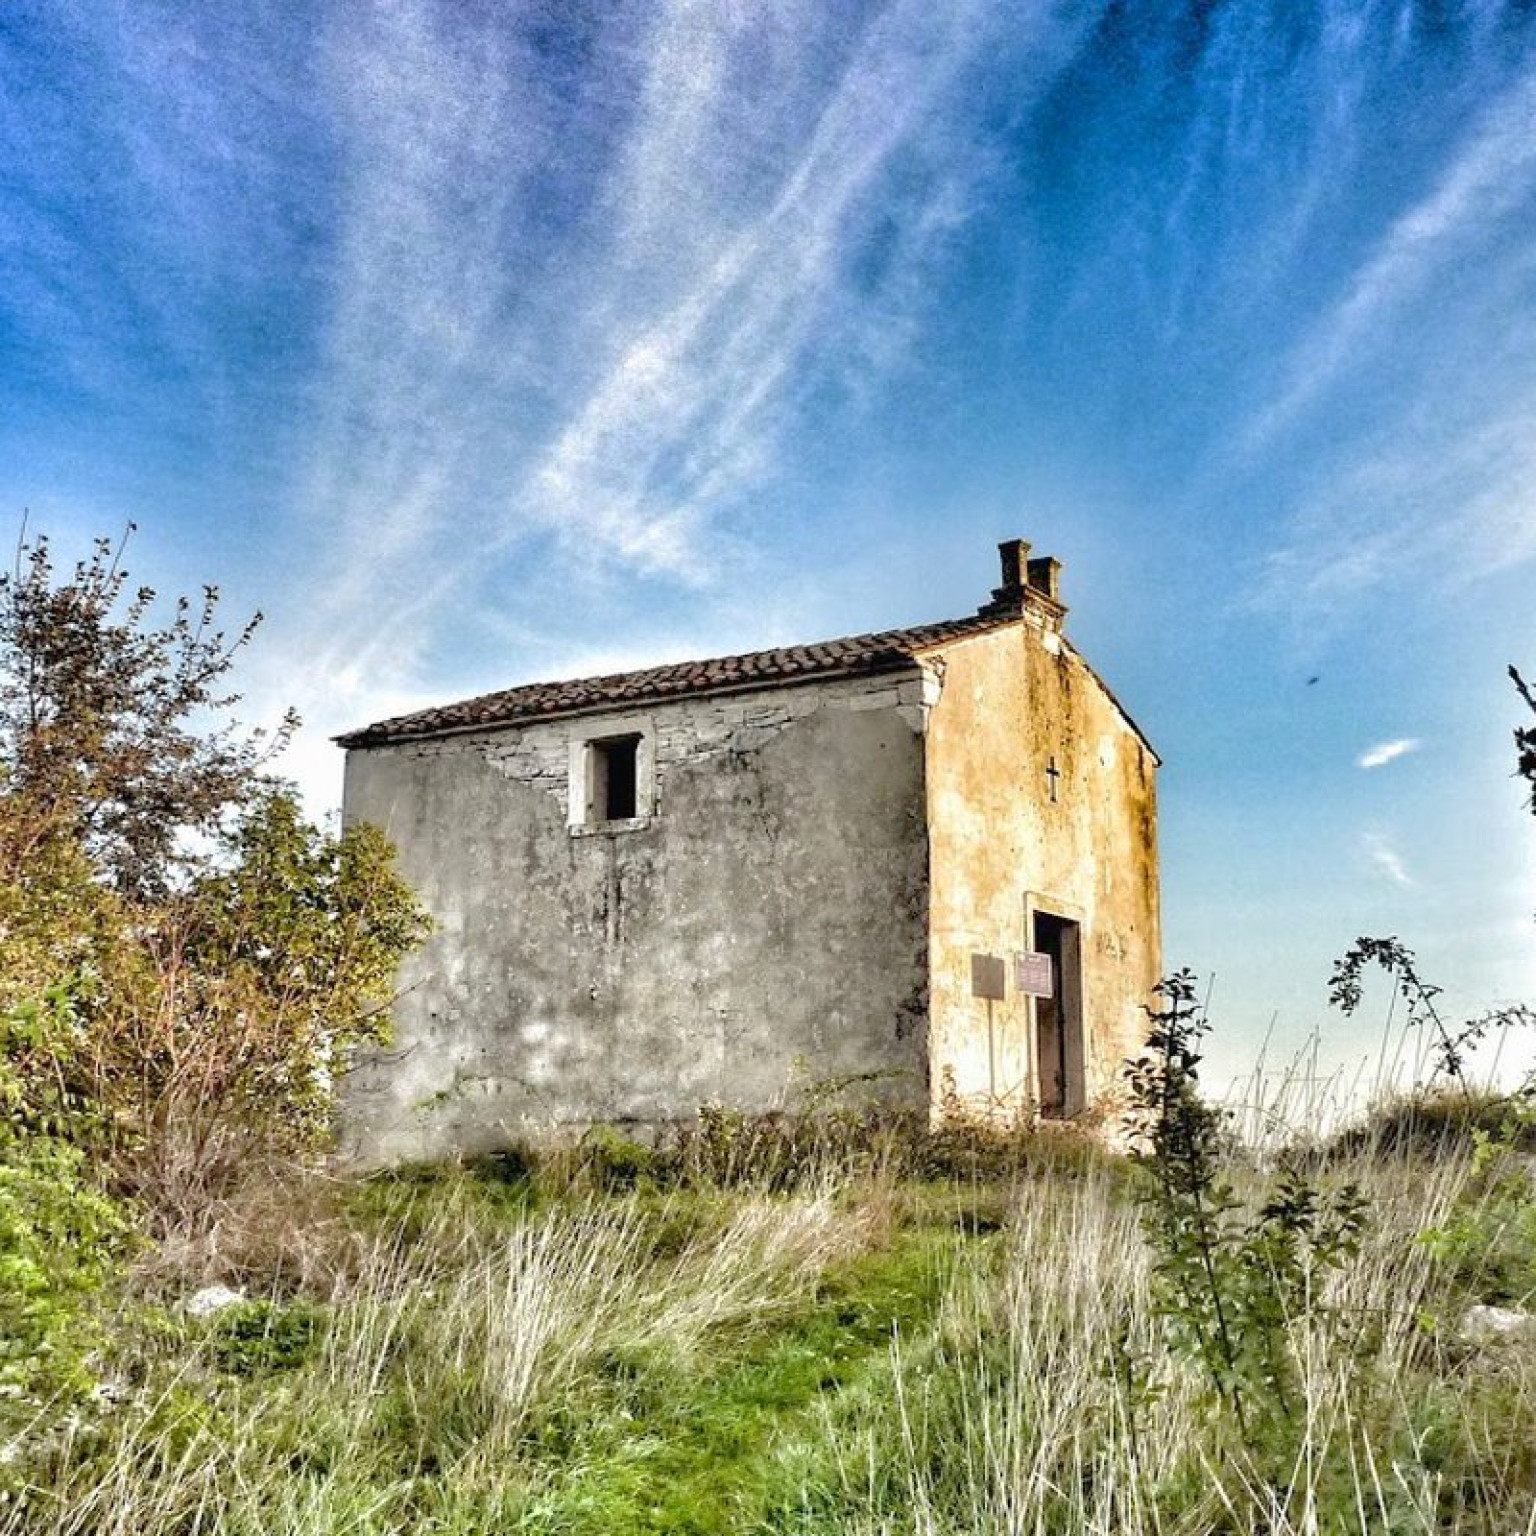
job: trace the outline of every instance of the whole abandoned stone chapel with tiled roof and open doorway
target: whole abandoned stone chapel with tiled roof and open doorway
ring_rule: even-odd
[[[813,1086],[1071,1117],[1160,966],[1158,756],[1000,545],[974,614],[338,737],[436,922],[344,1091],[362,1161]]]

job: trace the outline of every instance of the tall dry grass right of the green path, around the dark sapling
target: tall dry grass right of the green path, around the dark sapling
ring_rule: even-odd
[[[934,1335],[894,1346],[894,1413],[828,1424],[860,1511],[842,1528],[1536,1531],[1536,1339],[1473,1344],[1467,1296],[1424,1240],[1478,1210],[1473,1160],[1367,1152],[1341,1172],[1373,1220],[1287,1319],[1299,1402],[1284,1430],[1246,1442],[1167,1347],[1115,1186],[1025,1184],[1005,1263],[962,1266]]]

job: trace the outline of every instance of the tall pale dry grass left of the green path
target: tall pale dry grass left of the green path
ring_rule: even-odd
[[[831,1189],[722,1203],[588,1200],[493,1220],[449,1200],[376,1233],[301,1373],[220,1379],[169,1326],[140,1382],[38,1424],[31,1487],[0,1531],[372,1531],[456,1495],[481,1513],[528,1485],[530,1421],[581,1402],[614,1358],[685,1366],[770,1326],[866,1233]],[[441,1513],[441,1511],[439,1511]],[[479,1518],[479,1516],[476,1516]],[[478,1527],[476,1527],[478,1528]]]

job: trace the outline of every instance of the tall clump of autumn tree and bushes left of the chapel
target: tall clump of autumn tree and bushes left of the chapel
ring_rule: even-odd
[[[323,1144],[427,922],[382,836],[332,836],[241,731],[217,591],[151,621],[123,545],[0,578],[0,1083],[34,1140],[195,1213],[253,1157]]]

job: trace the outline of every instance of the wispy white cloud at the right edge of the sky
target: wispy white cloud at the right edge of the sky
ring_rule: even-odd
[[[1536,561],[1533,229],[1536,61],[1304,332],[1241,436],[1250,467],[1273,465],[1286,432],[1315,429],[1261,605],[1339,619],[1375,588],[1455,590]]]

